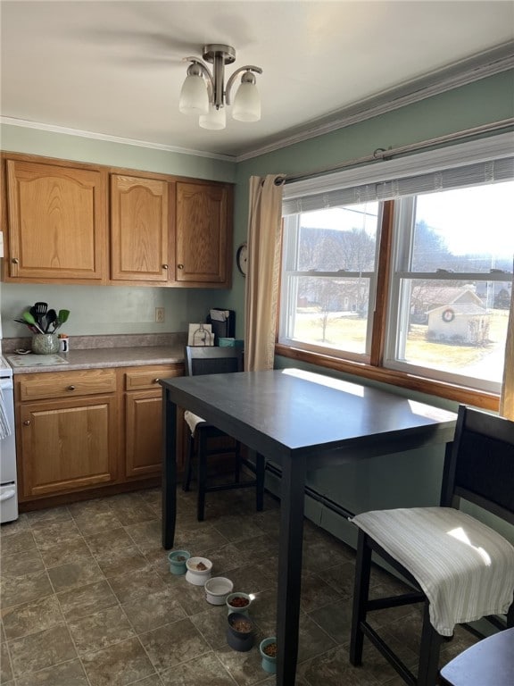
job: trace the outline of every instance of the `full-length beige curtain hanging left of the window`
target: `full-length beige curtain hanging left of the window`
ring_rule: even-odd
[[[277,328],[282,174],[250,178],[245,370],[273,369]],[[277,181],[277,183],[276,183]]]

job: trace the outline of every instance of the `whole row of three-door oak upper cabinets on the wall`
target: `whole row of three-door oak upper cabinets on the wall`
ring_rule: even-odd
[[[231,286],[232,184],[15,153],[0,177],[5,281]]]

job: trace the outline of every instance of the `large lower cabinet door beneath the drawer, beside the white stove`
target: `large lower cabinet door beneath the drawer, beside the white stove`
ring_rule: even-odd
[[[23,498],[115,481],[115,396],[27,403],[19,422]]]

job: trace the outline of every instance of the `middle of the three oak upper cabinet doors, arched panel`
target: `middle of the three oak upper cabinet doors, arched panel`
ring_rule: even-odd
[[[167,283],[168,184],[111,177],[111,279]]]

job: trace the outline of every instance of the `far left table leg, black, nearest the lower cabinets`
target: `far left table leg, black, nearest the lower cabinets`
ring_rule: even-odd
[[[175,540],[177,520],[177,406],[162,389],[162,547]]]

